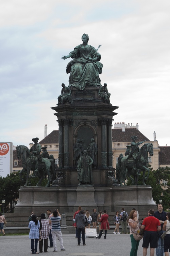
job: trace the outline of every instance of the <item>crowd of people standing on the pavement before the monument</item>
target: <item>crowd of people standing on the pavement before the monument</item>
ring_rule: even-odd
[[[129,216],[125,212],[125,209],[121,209],[121,213],[117,211],[113,217],[114,224],[116,228],[114,229],[114,234],[120,234],[119,225],[121,222],[122,233],[128,234],[127,225],[130,230],[130,240],[131,240],[131,252],[130,256],[137,256],[138,246],[140,240],[142,240],[143,256],[147,256],[147,250],[150,246],[150,256],[154,256],[156,248],[156,256],[168,256],[170,252],[170,212],[163,211],[162,203],[157,205],[158,210],[155,212],[154,209],[149,209],[148,217],[142,219],[139,222],[139,213],[135,208],[132,209]],[[62,232],[60,227],[61,215],[58,210],[47,210],[47,216],[44,213],[41,214],[40,220],[37,220],[34,212],[31,213],[29,217],[29,238],[31,239],[31,254],[38,254],[43,252],[43,242],[44,242],[44,252],[48,252],[48,247],[53,247],[53,252],[57,252],[57,239],[60,242],[60,250],[65,251],[63,245]],[[79,206],[78,210],[73,215],[74,227],[75,227],[75,238],[78,239],[78,246],[81,244],[81,234],[83,245],[85,243],[85,233],[86,229],[90,228],[92,223],[92,228],[97,229],[99,225],[99,235],[96,237],[100,239],[104,230],[104,239],[106,239],[107,230],[109,230],[108,214],[106,210],[100,211],[99,214],[96,209],[90,216],[89,210],[82,210]],[[0,213],[0,231],[2,230],[3,235],[5,235],[3,230],[4,217]],[[143,232],[142,232],[143,231]],[[48,238],[50,245],[48,245]],[[39,252],[37,252],[39,241]]]

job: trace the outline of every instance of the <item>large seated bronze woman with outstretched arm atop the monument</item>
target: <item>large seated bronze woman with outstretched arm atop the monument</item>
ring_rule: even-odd
[[[103,68],[103,64],[100,62],[101,55],[98,53],[98,49],[88,45],[88,40],[88,35],[83,34],[83,43],[76,46],[69,55],[61,58],[64,60],[73,59],[68,63],[66,72],[67,74],[70,73],[69,84],[79,90],[84,90],[86,85],[101,86],[99,78]]]

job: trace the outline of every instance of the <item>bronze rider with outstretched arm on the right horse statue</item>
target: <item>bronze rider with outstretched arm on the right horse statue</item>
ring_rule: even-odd
[[[130,153],[130,155],[128,156],[127,159],[133,157],[133,166],[132,166],[132,168],[136,171],[136,175],[139,176],[140,175],[139,171],[138,171],[138,169],[136,169],[136,157],[137,157],[137,154],[139,152],[138,145],[141,145],[146,140],[145,141],[141,141],[141,142],[136,142],[136,140],[138,140],[137,136],[132,136],[131,139],[132,139],[132,142],[131,142],[131,153]]]

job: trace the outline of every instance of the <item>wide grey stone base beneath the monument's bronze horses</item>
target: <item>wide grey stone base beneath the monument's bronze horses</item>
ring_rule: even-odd
[[[108,214],[121,211],[130,213],[132,208],[141,216],[147,216],[150,208],[156,209],[150,185],[110,186],[110,187],[20,187],[19,200],[14,213],[31,213],[40,216],[47,209],[58,209],[62,214],[73,213],[78,207],[88,209],[90,213],[96,208],[106,210]]]

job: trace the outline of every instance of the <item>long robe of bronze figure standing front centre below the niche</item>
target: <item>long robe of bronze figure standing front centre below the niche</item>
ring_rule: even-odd
[[[82,183],[92,184],[93,176],[92,176],[92,163],[93,160],[89,156],[81,156],[77,161],[78,166],[77,169],[80,170],[78,174],[78,180]],[[90,163],[90,165],[89,165]]]

